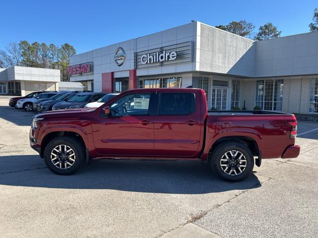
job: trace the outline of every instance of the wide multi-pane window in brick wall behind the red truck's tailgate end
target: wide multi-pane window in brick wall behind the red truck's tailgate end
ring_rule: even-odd
[[[255,106],[261,110],[282,111],[283,86],[283,79],[257,80]]]

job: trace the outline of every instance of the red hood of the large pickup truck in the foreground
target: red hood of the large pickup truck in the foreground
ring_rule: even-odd
[[[36,118],[63,118],[67,119],[68,117],[79,117],[83,116],[83,114],[87,114],[95,111],[95,108],[79,108],[79,109],[66,109],[66,110],[58,110],[58,111],[48,111],[44,113],[39,113],[35,117]]]

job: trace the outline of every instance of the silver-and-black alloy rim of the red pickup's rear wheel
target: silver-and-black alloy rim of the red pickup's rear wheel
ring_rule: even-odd
[[[231,176],[237,176],[243,173],[246,164],[245,156],[238,150],[230,150],[224,153],[220,160],[220,166],[223,172]]]

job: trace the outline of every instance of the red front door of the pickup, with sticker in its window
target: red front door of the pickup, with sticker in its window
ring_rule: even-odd
[[[96,151],[105,156],[153,156],[156,94],[126,94],[110,105],[111,115],[92,125]]]

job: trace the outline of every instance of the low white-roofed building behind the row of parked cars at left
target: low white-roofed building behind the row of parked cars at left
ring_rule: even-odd
[[[35,91],[83,91],[79,82],[61,82],[60,69],[0,68],[0,95],[25,96]]]

